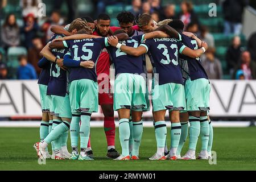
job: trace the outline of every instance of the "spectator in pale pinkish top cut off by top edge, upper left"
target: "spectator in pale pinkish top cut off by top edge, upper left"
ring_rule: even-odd
[[[41,0],[21,0],[20,5],[22,7],[22,16],[25,19],[27,15],[32,14],[34,18],[38,18],[38,4]]]

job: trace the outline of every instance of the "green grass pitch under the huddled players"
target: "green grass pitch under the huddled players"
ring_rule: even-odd
[[[170,131],[170,129],[168,129]],[[116,148],[121,151],[116,131]],[[94,161],[51,160],[39,165],[32,147],[39,140],[39,128],[0,128],[0,170],[256,170],[256,128],[214,129],[213,151],[217,164],[208,160],[149,161],[156,150],[153,128],[144,128],[138,161],[113,161],[106,159],[106,139],[102,128],[91,130]],[[170,133],[167,135],[170,146]],[[69,141],[70,146],[70,141]],[[200,139],[197,146],[200,150]],[[188,141],[183,148],[187,150]],[[69,147],[70,150],[71,147]]]

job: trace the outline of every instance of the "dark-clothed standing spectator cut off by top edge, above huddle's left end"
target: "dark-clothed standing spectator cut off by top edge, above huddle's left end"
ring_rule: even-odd
[[[75,19],[75,17],[76,17],[76,12],[77,12],[77,11],[75,11],[75,8],[77,7],[76,6],[76,0],[55,0],[54,1],[54,5],[55,5],[54,9],[60,12],[61,5],[63,5],[63,2],[67,2],[67,7],[68,7],[68,19],[67,19],[67,22],[71,23]]]

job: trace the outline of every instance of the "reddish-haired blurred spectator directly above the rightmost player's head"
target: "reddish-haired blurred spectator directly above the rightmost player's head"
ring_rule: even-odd
[[[197,23],[199,24],[199,19],[197,15],[193,11],[193,4],[192,2],[183,1],[180,5],[181,14],[180,20],[184,23],[185,27],[188,26],[189,23]]]

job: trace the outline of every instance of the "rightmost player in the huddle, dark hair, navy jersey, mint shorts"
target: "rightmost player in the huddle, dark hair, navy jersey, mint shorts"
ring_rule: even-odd
[[[171,27],[180,32],[182,42],[185,46],[191,49],[197,49],[202,42],[194,34],[183,32],[184,24],[179,19],[174,19],[168,23]],[[182,34],[183,32],[183,34]],[[201,152],[198,159],[209,159],[211,157],[211,148],[213,140],[213,128],[207,113],[209,107],[210,82],[201,65],[200,57],[193,59],[188,56],[180,55],[181,61],[187,61],[188,77],[185,81],[185,96],[187,99],[187,113],[182,113],[182,117],[187,118],[190,123],[189,128],[189,150],[182,159],[196,159],[195,151],[199,135],[201,136]],[[185,119],[184,119],[185,120]],[[188,122],[183,123],[183,133],[181,133],[181,140],[178,147],[178,155],[180,155],[181,148],[188,134]]]

